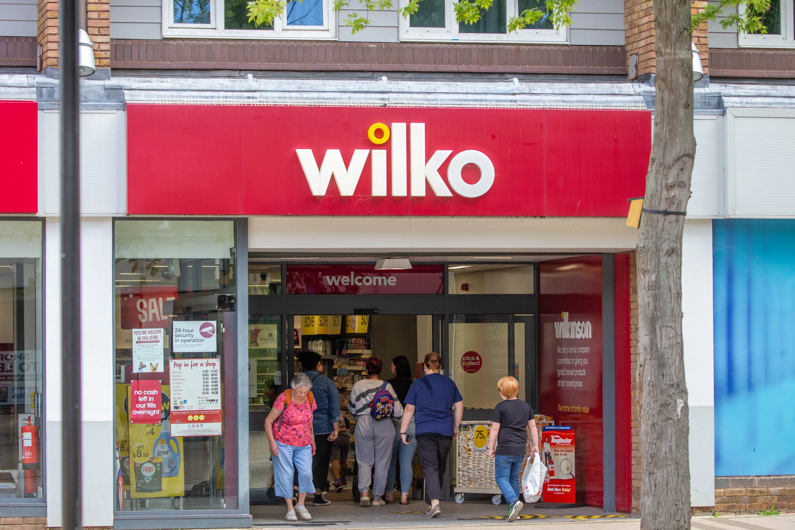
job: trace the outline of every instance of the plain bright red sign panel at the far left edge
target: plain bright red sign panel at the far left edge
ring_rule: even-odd
[[[0,213],[38,211],[37,105],[0,101]]]

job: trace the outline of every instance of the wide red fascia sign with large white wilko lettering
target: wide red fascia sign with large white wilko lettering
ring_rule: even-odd
[[[624,217],[626,198],[645,191],[650,120],[646,110],[134,103],[128,211]],[[178,193],[151,192],[163,175]]]

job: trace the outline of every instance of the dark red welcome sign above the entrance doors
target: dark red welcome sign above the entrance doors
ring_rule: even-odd
[[[289,295],[440,295],[442,265],[376,270],[374,265],[287,265]]]

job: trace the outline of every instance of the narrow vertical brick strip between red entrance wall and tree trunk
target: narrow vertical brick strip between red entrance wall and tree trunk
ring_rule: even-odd
[[[638,262],[630,252],[630,404],[632,440],[632,513],[640,513],[641,498],[641,411],[638,401]]]

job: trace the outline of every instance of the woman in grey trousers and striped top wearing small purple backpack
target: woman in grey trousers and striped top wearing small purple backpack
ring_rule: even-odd
[[[377,357],[367,359],[367,378],[356,381],[351,389],[351,398],[348,400],[348,410],[356,417],[356,462],[359,463],[359,491],[362,493],[359,502],[362,506],[386,505],[386,501],[381,497],[386,488],[386,474],[390,470],[395,431],[389,418],[374,420],[370,416],[370,403],[375,393],[384,385],[384,381],[378,379],[382,366],[381,359]],[[403,408],[397,400],[392,385],[386,383],[386,390],[394,397],[394,416],[396,418],[403,416]],[[373,468],[375,468],[375,478],[373,501],[370,503],[367,490],[370,489],[370,474]]]

